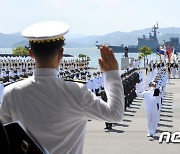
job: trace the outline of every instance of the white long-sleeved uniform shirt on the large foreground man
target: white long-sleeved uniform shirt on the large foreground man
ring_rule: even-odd
[[[119,122],[124,94],[119,71],[105,73],[108,103],[86,85],[58,78],[55,69],[36,69],[26,80],[7,86],[0,118],[21,121],[51,154],[81,154],[88,119]]]

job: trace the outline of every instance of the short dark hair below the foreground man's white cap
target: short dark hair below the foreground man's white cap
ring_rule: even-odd
[[[64,46],[64,40],[56,40],[50,42],[41,42],[41,43],[29,43],[30,48],[34,54],[34,57],[37,60],[44,61],[54,58],[57,54],[57,51]]]

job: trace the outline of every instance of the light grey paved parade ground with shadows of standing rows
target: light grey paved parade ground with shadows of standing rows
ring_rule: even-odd
[[[104,129],[104,122],[87,125],[84,154],[179,154],[180,143],[159,143],[161,132],[180,132],[180,79],[167,84],[156,136],[146,137],[147,121],[144,100],[135,99],[124,113],[124,119],[113,129]]]

